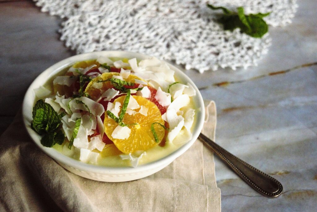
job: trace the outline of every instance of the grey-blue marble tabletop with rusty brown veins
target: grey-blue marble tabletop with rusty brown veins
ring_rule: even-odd
[[[292,24],[270,27],[273,44],[258,67],[185,71],[216,101],[216,142],[284,187],[278,198],[263,197],[216,159],[223,211],[316,211],[317,1],[298,3]],[[74,52],[58,40],[61,20],[31,1],[0,2],[0,20],[2,133],[36,76]]]

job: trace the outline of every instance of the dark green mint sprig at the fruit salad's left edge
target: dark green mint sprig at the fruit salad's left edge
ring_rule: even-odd
[[[42,99],[38,100],[33,107],[31,127],[38,134],[44,135],[41,139],[41,144],[44,147],[53,147],[56,143],[62,144],[64,142],[65,135],[61,130],[58,130],[61,124],[60,115]]]

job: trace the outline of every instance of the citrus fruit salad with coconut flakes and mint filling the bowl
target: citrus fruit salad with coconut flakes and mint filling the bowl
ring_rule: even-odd
[[[157,58],[80,61],[34,89],[41,144],[82,162],[136,167],[191,140],[196,95]]]

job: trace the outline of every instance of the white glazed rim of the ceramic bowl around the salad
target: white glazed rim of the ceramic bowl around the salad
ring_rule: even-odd
[[[193,86],[193,88],[196,90],[195,102],[196,102],[196,106],[198,110],[196,110],[197,122],[192,133],[192,138],[187,143],[179,147],[177,150],[175,150],[171,154],[168,154],[159,160],[142,164],[134,168],[134,167],[106,167],[106,166],[88,164],[88,163],[75,160],[71,157],[68,157],[67,155],[62,154],[61,152],[57,151],[54,148],[42,146],[40,142],[40,135],[38,135],[30,127],[30,121],[31,121],[30,113],[32,112],[32,109],[34,106],[34,99],[35,99],[35,94],[33,89],[43,85],[42,83],[43,79],[45,79],[45,82],[46,82],[52,75],[55,75],[56,73],[60,72],[64,68],[68,67],[69,65],[74,64],[75,62],[78,62],[81,60],[98,58],[99,56],[119,57],[119,58],[137,58],[137,59],[152,58],[152,56],[148,56],[141,53],[130,52],[130,51],[95,51],[95,52],[90,52],[85,54],[74,55],[72,57],[63,59],[60,62],[57,62],[54,65],[47,68],[39,76],[37,76],[36,79],[31,83],[23,99],[23,106],[22,106],[23,123],[24,123],[24,127],[26,128],[33,142],[44,153],[48,154],[55,161],[59,161],[75,169],[79,169],[79,170],[83,170],[87,172],[93,172],[93,173],[107,173],[107,174],[118,174],[118,173],[132,174],[132,173],[139,173],[139,172],[144,172],[147,170],[152,170],[158,167],[162,167],[164,165],[166,166],[172,161],[174,161],[181,154],[183,154],[187,149],[189,149],[191,145],[197,140],[198,135],[201,132],[204,125],[204,120],[205,120],[204,100],[197,86],[193,83],[193,81],[183,71],[181,71],[180,69],[178,69],[177,67],[175,67],[174,65],[171,65],[170,63],[166,61],[165,61],[166,64],[173,71],[175,71],[176,76],[180,78],[181,81],[185,83],[190,83]],[[30,103],[32,103],[31,106],[30,106]]]

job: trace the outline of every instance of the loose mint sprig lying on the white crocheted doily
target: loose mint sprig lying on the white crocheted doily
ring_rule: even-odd
[[[240,28],[245,34],[254,37],[262,38],[268,32],[268,24],[263,20],[263,17],[270,13],[244,14],[243,7],[238,7],[237,12],[228,10],[225,7],[214,7],[211,4],[207,6],[212,10],[222,10],[223,16],[218,18],[219,23],[223,24],[224,30],[234,30]]]

